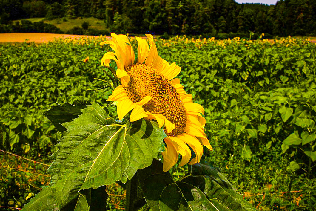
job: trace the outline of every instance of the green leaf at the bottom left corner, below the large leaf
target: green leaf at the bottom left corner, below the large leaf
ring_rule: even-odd
[[[35,197],[30,199],[23,211],[52,211],[53,208],[57,208],[56,202],[53,200],[52,188],[47,186],[43,187],[40,193],[36,194]]]

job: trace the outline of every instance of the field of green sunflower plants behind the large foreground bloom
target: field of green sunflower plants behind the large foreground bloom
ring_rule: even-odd
[[[56,102],[107,103],[111,90],[94,90],[106,85],[94,78],[108,79],[98,66],[110,49],[99,46],[104,40],[0,44],[1,210],[22,208],[49,182],[44,164],[61,134],[43,113]],[[291,37],[155,42],[163,59],[181,66],[181,83],[205,109],[214,148],[205,160],[260,210],[315,210],[316,45]],[[134,38],[131,44],[137,53]],[[187,168],[170,171],[179,178]],[[124,190],[107,191],[109,210],[123,209]]]

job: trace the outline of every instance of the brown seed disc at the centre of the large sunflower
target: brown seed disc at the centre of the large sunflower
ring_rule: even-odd
[[[154,68],[145,64],[128,66],[125,71],[131,77],[128,87],[124,88],[132,102],[139,102],[145,96],[152,99],[143,105],[145,111],[162,114],[175,124],[175,128],[167,136],[176,136],[184,132],[186,125],[185,107],[181,97],[173,85]]]

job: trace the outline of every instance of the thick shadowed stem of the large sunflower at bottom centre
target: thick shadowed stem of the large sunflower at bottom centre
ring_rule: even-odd
[[[125,201],[125,211],[136,211],[138,208],[136,207],[137,202],[137,185],[138,185],[138,177],[135,174],[131,180],[127,180],[126,182],[126,201]]]

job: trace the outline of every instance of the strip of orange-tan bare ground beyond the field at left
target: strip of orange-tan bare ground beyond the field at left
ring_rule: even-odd
[[[49,33],[3,33],[0,34],[0,42],[28,42],[43,43],[53,41],[55,38],[79,38],[79,37],[94,37],[87,35],[73,35],[73,34],[49,34]]]

